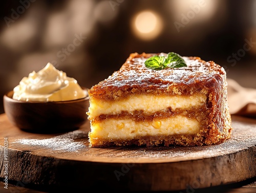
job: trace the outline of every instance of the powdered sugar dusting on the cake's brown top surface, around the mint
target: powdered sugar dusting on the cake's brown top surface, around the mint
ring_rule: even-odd
[[[166,54],[160,53],[159,55]],[[164,89],[172,83],[192,85],[195,82],[210,81],[215,75],[226,76],[225,70],[221,66],[213,61],[201,60],[199,57],[183,57],[187,67],[163,70],[148,69],[144,62],[150,56],[152,54],[141,54],[127,59],[119,71],[99,82],[95,88],[100,90],[108,87],[121,89],[125,85],[133,88],[137,84],[150,88],[154,84],[156,89]],[[155,83],[156,80],[158,83]]]

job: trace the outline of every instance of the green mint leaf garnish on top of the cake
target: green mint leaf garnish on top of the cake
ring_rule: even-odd
[[[167,56],[152,56],[145,61],[146,68],[162,70],[165,68],[186,67],[185,60],[177,53],[169,52]]]

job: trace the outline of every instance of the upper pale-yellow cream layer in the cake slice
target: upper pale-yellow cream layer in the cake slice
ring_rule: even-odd
[[[105,101],[90,98],[88,111],[89,119],[96,118],[101,114],[118,114],[121,111],[139,111],[152,114],[157,111],[172,108],[189,109],[192,106],[200,106],[206,103],[207,97],[198,93],[191,96],[155,96],[155,95],[132,95],[118,101]]]

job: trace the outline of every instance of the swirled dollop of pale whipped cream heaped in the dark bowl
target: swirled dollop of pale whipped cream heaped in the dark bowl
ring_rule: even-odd
[[[66,101],[87,96],[76,79],[57,70],[50,62],[40,71],[33,71],[20,80],[13,92],[12,98],[22,101]]]

